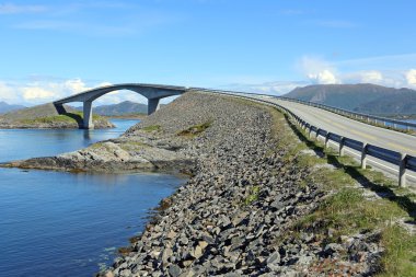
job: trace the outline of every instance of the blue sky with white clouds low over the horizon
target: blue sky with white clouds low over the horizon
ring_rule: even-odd
[[[415,11],[414,0],[0,0],[0,101],[125,82],[416,89]],[[96,104],[124,100],[145,101],[122,91]]]

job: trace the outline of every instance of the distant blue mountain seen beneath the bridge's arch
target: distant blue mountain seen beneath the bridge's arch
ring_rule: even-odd
[[[82,107],[76,107],[82,111]],[[131,114],[147,114],[148,105],[141,103],[135,103],[131,101],[125,101],[118,104],[102,105],[93,108],[93,113],[105,116],[120,116]]]

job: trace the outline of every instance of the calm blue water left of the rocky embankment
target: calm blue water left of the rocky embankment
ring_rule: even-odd
[[[0,161],[51,155],[119,136],[111,130],[0,130]],[[93,276],[184,183],[166,174],[0,169],[0,276]]]

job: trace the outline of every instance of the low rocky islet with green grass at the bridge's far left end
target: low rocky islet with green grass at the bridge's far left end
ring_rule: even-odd
[[[93,116],[94,128],[115,127],[102,116]],[[82,127],[82,113],[63,106],[58,113],[53,103],[0,115],[0,129],[76,129]]]

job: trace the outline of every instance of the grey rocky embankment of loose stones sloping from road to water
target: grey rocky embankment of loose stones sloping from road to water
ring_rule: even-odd
[[[14,165],[169,165],[192,173],[161,201],[130,252],[100,276],[325,276],[323,267],[335,264],[337,276],[371,275],[382,251],[377,234],[332,242],[313,230],[291,233],[327,193],[319,182],[304,182],[308,168],[288,162],[296,154],[281,136],[288,131],[268,107],[187,93],[119,139]]]

